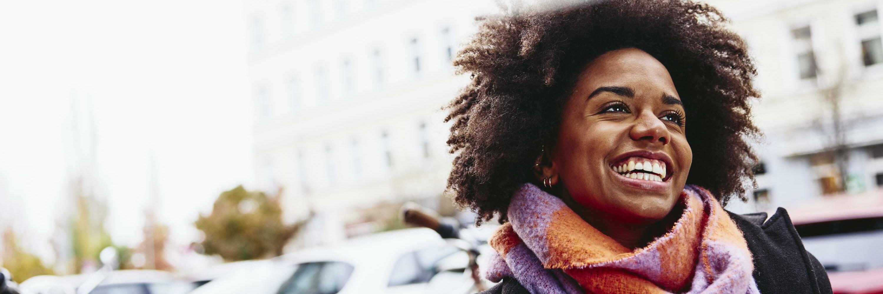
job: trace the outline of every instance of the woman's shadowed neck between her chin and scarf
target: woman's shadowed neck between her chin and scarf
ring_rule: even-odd
[[[577,213],[585,222],[601,233],[613,238],[620,245],[634,250],[645,247],[656,237],[664,235],[672,224],[680,217],[676,206],[668,215],[659,220],[636,220],[622,216],[610,215],[593,207],[583,206],[570,196],[562,197],[564,203]]]

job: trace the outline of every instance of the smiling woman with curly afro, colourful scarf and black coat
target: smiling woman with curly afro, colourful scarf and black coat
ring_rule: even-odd
[[[502,283],[487,292],[830,292],[783,210],[723,209],[744,200],[759,132],[754,65],[719,11],[504,11],[454,61],[472,82],[447,117],[449,190],[503,224],[486,268]]]

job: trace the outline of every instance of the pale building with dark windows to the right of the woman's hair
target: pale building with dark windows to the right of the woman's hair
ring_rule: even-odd
[[[758,189],[743,212],[883,186],[879,0],[708,1],[758,64]],[[734,201],[735,202],[735,201]]]

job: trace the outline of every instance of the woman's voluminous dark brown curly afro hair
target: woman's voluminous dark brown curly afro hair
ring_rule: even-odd
[[[552,7],[554,6],[554,7]],[[748,139],[751,79],[756,70],[745,42],[720,11],[688,0],[585,1],[524,8],[503,6],[479,17],[479,31],[454,65],[472,81],[450,102],[448,145],[456,154],[448,178],[461,207],[478,222],[506,209],[513,192],[537,183],[532,165],[557,138],[562,108],[578,74],[595,57],[637,48],[658,59],[674,80],[690,116],[687,141],[694,164],[687,184],[726,205],[746,200],[746,178],[758,162]]]

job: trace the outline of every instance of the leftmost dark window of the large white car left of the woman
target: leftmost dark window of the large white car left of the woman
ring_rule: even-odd
[[[335,294],[350,279],[352,266],[338,261],[308,262],[285,281],[277,294]]]

